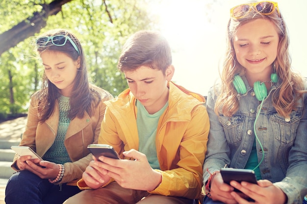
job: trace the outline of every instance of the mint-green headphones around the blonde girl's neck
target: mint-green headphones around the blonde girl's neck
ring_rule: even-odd
[[[278,82],[277,73],[271,74],[271,82],[273,82],[273,83]],[[247,92],[245,84],[244,84],[242,78],[238,74],[233,77],[232,83],[233,83],[235,90],[239,94],[245,94]],[[258,101],[262,101],[268,95],[268,91],[265,87],[265,84],[263,82],[260,82],[260,81],[256,81],[254,83],[254,91],[255,91],[255,95],[256,95],[256,98],[258,99]]]

